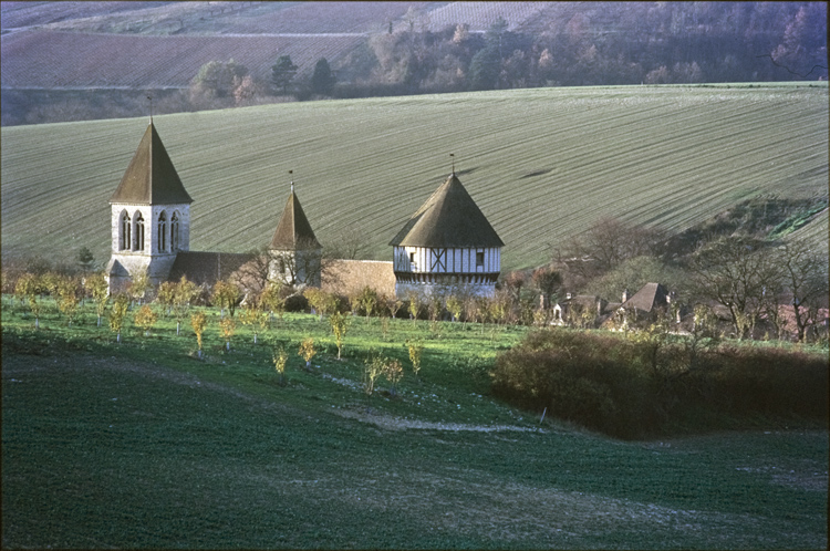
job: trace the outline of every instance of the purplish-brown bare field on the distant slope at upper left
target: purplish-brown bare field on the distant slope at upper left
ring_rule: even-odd
[[[342,58],[361,34],[146,37],[22,32],[3,39],[4,89],[170,89],[187,87],[209,61],[230,59],[268,80],[283,54],[305,73],[320,58]],[[55,63],[55,60],[61,63]]]

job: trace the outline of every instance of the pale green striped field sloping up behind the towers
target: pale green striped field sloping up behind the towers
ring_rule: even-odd
[[[828,91],[585,87],[269,105],[156,117],[193,250],[268,242],[288,170],[320,240],[386,246],[449,171],[535,266],[603,216],[682,230],[758,194],[827,193]],[[107,199],[146,118],[2,128],[3,253],[108,258]],[[83,214],[83,216],[80,216]],[[809,227],[809,226],[808,226]]]

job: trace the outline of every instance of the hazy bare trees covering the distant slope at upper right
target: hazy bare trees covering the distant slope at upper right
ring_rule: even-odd
[[[411,10],[408,28],[374,34],[338,63],[342,83],[324,59],[310,79],[295,83],[299,67],[283,55],[272,67],[270,83],[246,87],[240,81],[239,94],[242,101],[267,93],[307,100],[818,80],[827,77],[826,15],[823,4],[811,2],[601,3],[523,31],[509,30],[499,19],[477,33],[466,23],[440,31],[418,29]],[[226,80],[231,82],[230,76]],[[197,75],[197,81],[203,79]]]

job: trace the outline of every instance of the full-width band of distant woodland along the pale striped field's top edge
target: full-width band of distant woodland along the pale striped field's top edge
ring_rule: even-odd
[[[542,4],[540,4],[542,6]],[[189,87],[153,92],[156,113],[323,97],[536,86],[827,80],[823,2],[551,2],[486,29],[414,8],[336,60],[270,74],[216,60]],[[288,58],[288,59],[286,59]],[[322,70],[321,70],[322,66]],[[2,124],[146,114],[147,90],[4,90]]]

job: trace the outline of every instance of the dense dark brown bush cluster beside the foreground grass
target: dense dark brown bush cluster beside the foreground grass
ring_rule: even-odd
[[[727,428],[758,418],[827,423],[828,365],[800,351],[718,346],[566,329],[537,331],[496,361],[492,392],[619,438]]]

